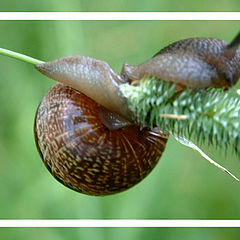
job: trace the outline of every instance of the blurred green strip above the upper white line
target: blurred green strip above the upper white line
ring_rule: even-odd
[[[0,11],[239,11],[239,0],[19,0],[4,1]]]

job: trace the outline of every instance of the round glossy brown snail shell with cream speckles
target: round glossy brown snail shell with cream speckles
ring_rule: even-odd
[[[109,129],[101,120],[102,108],[57,84],[35,118],[36,145],[48,170],[65,186],[89,195],[121,192],[140,182],[157,164],[167,141],[137,125]]]

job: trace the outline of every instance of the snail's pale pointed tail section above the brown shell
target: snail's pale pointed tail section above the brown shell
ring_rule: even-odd
[[[130,119],[126,99],[118,88],[124,80],[108,63],[91,57],[70,56],[35,67],[47,77],[84,93],[110,111]]]

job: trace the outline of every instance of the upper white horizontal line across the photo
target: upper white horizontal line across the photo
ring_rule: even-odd
[[[240,12],[0,12],[0,20],[240,20]]]

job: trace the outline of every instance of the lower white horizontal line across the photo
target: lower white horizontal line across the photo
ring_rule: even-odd
[[[0,227],[240,227],[240,220],[0,220]]]

